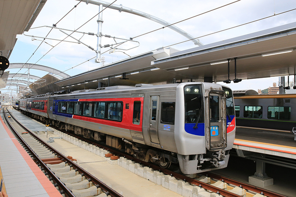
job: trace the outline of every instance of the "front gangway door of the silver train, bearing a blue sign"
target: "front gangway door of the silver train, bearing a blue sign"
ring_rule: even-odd
[[[225,93],[212,89],[206,92],[205,98],[206,147],[210,151],[222,150],[227,146]]]

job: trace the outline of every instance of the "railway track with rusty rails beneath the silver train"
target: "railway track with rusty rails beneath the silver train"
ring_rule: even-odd
[[[198,174],[196,177],[190,178],[183,174],[163,169],[157,165],[137,160],[130,155],[96,144],[80,136],[75,136],[73,133],[65,133],[58,130],[54,132],[55,134],[63,136],[65,140],[77,146],[83,146],[85,149],[95,154],[99,154],[103,157],[106,153],[109,153],[108,157],[118,156],[120,158],[117,160],[117,164],[120,166],[185,197],[284,197],[283,195],[275,194],[262,188],[237,182],[213,173]]]

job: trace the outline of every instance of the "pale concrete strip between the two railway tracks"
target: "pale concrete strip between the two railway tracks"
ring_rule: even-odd
[[[36,132],[40,131],[39,133],[37,133],[37,135],[44,141],[47,141],[48,137],[50,136],[57,136],[54,135],[53,132],[49,131],[48,137],[46,137],[46,134],[44,134],[43,132],[45,129],[45,125],[42,125],[41,123],[28,118],[17,110],[11,109],[9,111],[15,118],[21,120],[21,123],[28,129],[35,129]],[[181,195],[174,193],[166,188],[163,188],[161,185],[152,183],[151,181],[144,179],[129,170],[123,169],[121,166],[117,165],[117,163],[111,165],[104,158],[85,149],[82,149],[64,139],[55,139],[55,141],[53,143],[50,143],[49,145],[57,149],[59,152],[63,153],[65,156],[72,156],[74,159],[77,159],[77,163],[80,166],[82,166],[92,175],[96,176],[98,179],[110,185],[114,190],[116,190],[119,194],[122,194],[123,196],[181,197]],[[36,196],[40,197],[39,195]],[[9,197],[11,196],[9,195]]]

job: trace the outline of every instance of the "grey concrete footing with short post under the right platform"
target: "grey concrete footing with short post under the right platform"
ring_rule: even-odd
[[[273,178],[268,177],[265,173],[265,162],[256,161],[256,172],[254,176],[249,176],[249,183],[259,187],[273,185]]]

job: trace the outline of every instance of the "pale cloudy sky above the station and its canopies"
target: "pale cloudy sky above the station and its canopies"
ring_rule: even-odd
[[[112,0],[105,1],[110,3],[113,2]],[[58,28],[62,29],[77,30],[85,33],[97,33],[97,14],[99,6],[90,3],[86,4],[85,2],[78,3],[79,1],[77,0],[47,0],[36,21],[32,25],[31,30],[24,33],[30,36],[24,34],[17,35],[18,40],[9,58],[9,62],[28,62],[30,64],[49,66],[65,71],[71,76],[101,67],[102,64],[95,63],[95,59],[92,59],[96,56],[96,53],[93,50],[83,44],[73,43],[76,42],[76,40],[70,37],[66,38],[66,34],[57,29],[50,28],[53,24],[56,24]],[[176,26],[184,30],[186,33],[191,34],[193,37],[199,37],[200,42],[203,44],[210,44],[228,38],[292,23],[295,22],[296,19],[295,10],[277,15],[281,12],[296,8],[295,0],[116,0],[114,4],[122,4],[124,7],[145,12],[169,23],[176,23],[184,20],[183,22],[176,24]],[[229,5],[223,6],[226,4]],[[74,8],[74,5],[77,6]],[[74,9],[68,13],[72,8]],[[215,33],[272,15],[275,16],[220,33]],[[105,59],[105,65],[129,58],[129,56],[133,57],[149,51],[154,51],[161,47],[170,46],[177,50],[196,47],[191,41],[176,44],[187,40],[187,38],[169,28],[148,33],[162,28],[163,25],[141,16],[107,8],[103,11],[103,21],[103,34],[123,39],[130,39],[130,37],[133,37],[133,40],[140,43],[140,46],[136,48],[133,48],[137,46],[135,42],[122,44],[120,47],[124,49],[121,50],[124,53],[118,51],[110,53],[112,49],[103,48],[101,53],[102,57]],[[69,31],[65,32],[71,33]],[[213,34],[206,36],[209,33]],[[46,39],[46,43],[41,43],[43,38],[38,37],[45,37],[46,35],[47,38],[58,40],[66,38],[65,40],[73,42],[60,42],[58,40]],[[97,47],[97,36],[95,35],[73,33],[72,36],[76,39],[80,39],[81,42],[88,46],[95,49]],[[116,42],[121,42],[120,39],[115,40]],[[103,45],[114,43],[112,38],[102,37]],[[10,70],[10,73],[28,72],[28,69],[20,70],[8,68],[7,70]],[[41,77],[47,73],[30,69],[30,74]],[[239,78],[239,73],[237,76]],[[291,76],[290,81],[292,81],[293,78],[294,77]],[[233,90],[254,89],[257,91],[258,89],[263,90],[272,86],[273,82],[278,83],[278,77],[243,80],[237,84],[227,84],[227,86]]]

